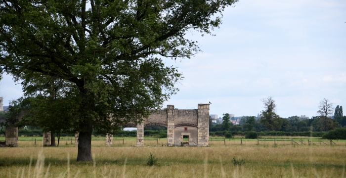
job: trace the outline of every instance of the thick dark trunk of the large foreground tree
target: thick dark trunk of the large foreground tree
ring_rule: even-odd
[[[91,157],[91,124],[85,124],[85,129],[79,133],[77,161],[92,161]]]

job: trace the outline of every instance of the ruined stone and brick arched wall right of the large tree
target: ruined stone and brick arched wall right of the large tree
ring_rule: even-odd
[[[167,127],[167,145],[181,146],[183,138],[188,138],[189,146],[209,145],[209,104],[198,104],[198,109],[174,109],[167,105],[166,110],[152,110],[151,115],[141,124],[128,124],[137,127],[137,146],[144,146],[144,127]]]

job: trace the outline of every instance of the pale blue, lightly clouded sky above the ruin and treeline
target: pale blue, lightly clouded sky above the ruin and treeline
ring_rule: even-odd
[[[219,117],[257,116],[260,99],[272,96],[284,118],[316,116],[323,98],[346,107],[345,0],[240,0],[212,33],[186,35],[203,50],[191,59],[164,59],[184,77],[164,105],[197,109],[211,102],[210,114]],[[22,93],[3,76],[4,106]]]

